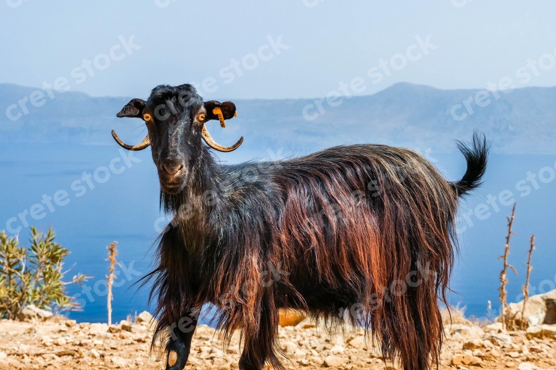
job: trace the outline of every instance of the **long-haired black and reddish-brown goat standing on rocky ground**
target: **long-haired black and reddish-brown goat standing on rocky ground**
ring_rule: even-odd
[[[362,325],[384,358],[406,370],[438,367],[439,302],[447,305],[458,249],[458,199],[480,185],[484,136],[459,142],[467,169],[455,183],[415,151],[388,145],[220,164],[201,138],[220,151],[236,149],[243,138],[221,146],[205,124],[218,119],[225,126],[235,114],[234,103],[203,102],[191,85],[160,85],[117,114],[145,120],[141,144],[124,144],[112,131],[126,149],[151,146],[161,207],[176,214],[160,236],[160,262],[143,280],[152,281],[158,300],[153,343],[167,341],[166,369],[185,366],[207,302],[219,311],[226,343],[241,332],[240,369],[284,369],[281,308],[330,327]]]

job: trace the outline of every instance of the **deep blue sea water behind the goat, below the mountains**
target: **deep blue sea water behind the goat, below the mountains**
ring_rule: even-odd
[[[277,151],[276,151],[277,152]],[[42,204],[43,195],[54,197],[58,191],[66,191],[69,202],[57,205],[52,201],[54,211],[45,206],[44,216],[35,220],[27,215],[29,224],[47,229],[52,225],[57,233],[57,242],[72,253],[66,267],[71,267],[68,280],[74,273],[82,272],[94,276],[86,282],[86,287],[69,285],[72,295],[79,295],[83,305],[82,312],[71,312],[69,316],[78,321],[106,321],[106,295],[103,279],[107,275],[106,246],[118,241],[118,261],[125,269],[117,268],[114,288],[115,300],[112,302],[113,321],[126,318],[128,314],[152,309],[147,305],[148,286],[137,290],[132,283],[145,275],[153,264],[153,243],[158,236],[157,226],[162,216],[158,209],[158,179],[152,163],[150,150],[133,153],[140,161],[126,165],[122,155],[130,152],[118,150],[116,145],[51,145],[51,144],[8,144],[0,148],[1,207],[0,229],[6,229],[8,220],[15,217],[9,226],[19,231],[19,239],[27,243],[28,227],[23,227],[18,214],[31,212],[34,204]],[[287,155],[287,153],[282,153]],[[241,161],[261,153],[244,151],[222,157],[230,161]],[[431,160],[450,180],[457,180],[464,173],[465,163],[461,154],[431,153]],[[117,161],[117,158],[120,158]],[[105,180],[101,171],[98,179],[91,179],[94,188],[81,181],[72,189],[72,184],[81,180],[82,173],[93,174],[101,166],[113,168],[119,173],[110,173]],[[493,309],[499,307],[499,272],[502,262],[498,256],[504,249],[507,234],[506,215],[511,205],[500,205],[497,209],[486,203],[488,195],[499,197],[504,190],[512,191],[517,201],[514,223],[515,236],[510,241],[509,262],[517,269],[518,276],[508,272],[508,299],[519,298],[521,285],[525,280],[523,263],[529,248],[529,237],[535,234],[537,249],[533,255],[533,272],[530,285],[534,292],[548,291],[556,284],[556,233],[554,233],[554,209],[556,209],[556,180],[543,183],[538,178],[538,189],[530,181],[520,186],[531,187],[530,194],[516,190],[519,181],[527,178],[527,173],[539,175],[539,170],[550,167],[554,170],[554,155],[497,155],[490,156],[488,172],[484,185],[468,199],[461,202],[461,212],[475,210],[480,204],[488,210],[474,212],[469,220],[462,218],[458,225],[461,250],[458,256],[451,288],[454,293],[450,301],[455,305],[466,306],[466,315],[484,317],[487,315],[486,302],[493,302]],[[544,173],[545,178],[549,172]],[[85,185],[86,191],[77,186]],[[509,197],[508,199],[511,199]],[[509,201],[508,201],[509,202]],[[40,211],[36,212],[41,214]],[[479,217],[481,219],[479,219]],[[13,221],[13,219],[12,219]],[[465,229],[465,230],[464,230]]]

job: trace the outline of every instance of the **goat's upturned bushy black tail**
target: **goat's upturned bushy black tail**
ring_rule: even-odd
[[[485,135],[474,131],[473,140],[470,144],[457,141],[458,149],[467,161],[467,170],[461,180],[450,183],[457,196],[463,196],[471,190],[479,187],[483,181],[486,170],[486,158],[488,157],[490,145],[487,143]]]

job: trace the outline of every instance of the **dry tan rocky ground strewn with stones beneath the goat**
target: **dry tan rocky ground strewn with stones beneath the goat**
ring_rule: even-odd
[[[150,315],[135,323],[76,323],[62,318],[31,322],[0,321],[0,369],[164,369],[165,359],[150,353]],[[503,331],[500,323],[479,327],[463,317],[446,326],[443,369],[556,369],[556,325],[525,331]],[[280,328],[280,343],[289,369],[395,369],[385,364],[378,348],[354,331],[330,337],[309,321]],[[235,369],[239,337],[223,348],[215,330],[201,325],[193,337],[186,369]]]

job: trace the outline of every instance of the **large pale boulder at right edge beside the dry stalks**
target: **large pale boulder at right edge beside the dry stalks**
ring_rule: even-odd
[[[506,320],[519,327],[522,322],[523,301],[510,303],[505,312]],[[556,323],[556,290],[529,297],[524,312],[525,327]]]

